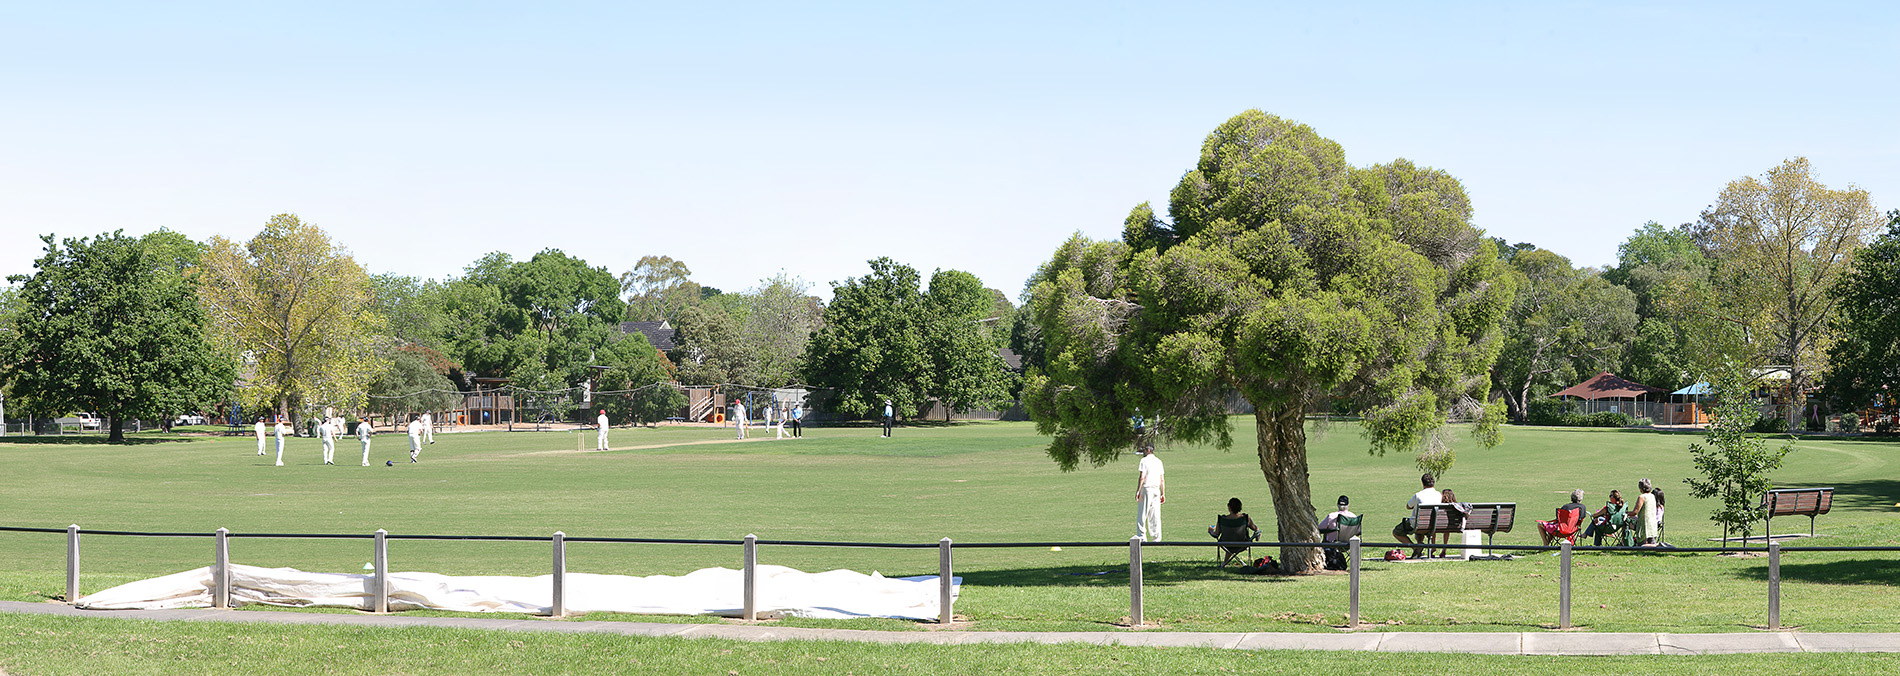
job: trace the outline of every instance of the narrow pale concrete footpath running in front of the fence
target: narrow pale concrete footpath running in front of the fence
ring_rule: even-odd
[[[1092,644],[1226,649],[1351,649],[1378,653],[1478,655],[1718,655],[1718,653],[1900,653],[1900,632],[1889,634],[1592,634],[1592,632],[971,632],[861,629],[800,629],[771,625],[595,623],[526,617],[405,617],[369,613],[283,613],[245,610],[78,610],[66,604],[0,602],[0,613],[59,617],[348,625],[448,627],[566,634],[621,634],[728,640],[847,640],[866,644]]]

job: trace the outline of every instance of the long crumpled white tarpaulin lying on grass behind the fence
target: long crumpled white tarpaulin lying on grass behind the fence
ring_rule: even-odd
[[[961,577],[950,577],[952,598]],[[332,606],[370,610],[374,575],[310,573],[294,568],[232,564],[232,606]],[[728,615],[745,610],[745,572],[703,568],[673,575],[568,573],[570,613],[618,611],[652,615]],[[211,608],[211,568],[141,579],[80,598],[91,610]],[[758,566],[756,610],[798,617],[937,619],[937,575],[884,577],[851,570],[806,573],[785,566]],[[547,613],[553,575],[437,575],[390,573],[390,610],[454,610]]]

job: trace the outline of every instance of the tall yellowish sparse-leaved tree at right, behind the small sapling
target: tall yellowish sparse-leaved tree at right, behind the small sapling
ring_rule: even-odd
[[[1830,190],[1807,158],[1729,182],[1702,215],[1723,308],[1748,327],[1758,365],[1788,366],[1790,429],[1834,342],[1839,300],[1830,291],[1879,226],[1866,190]]]

